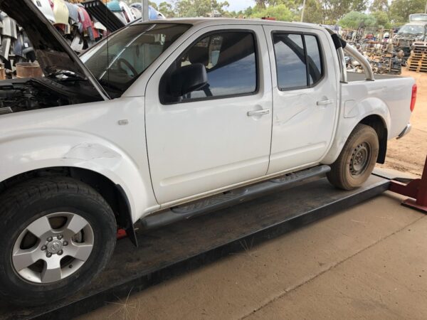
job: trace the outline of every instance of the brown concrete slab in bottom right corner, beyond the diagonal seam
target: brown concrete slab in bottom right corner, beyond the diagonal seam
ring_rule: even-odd
[[[426,233],[416,220],[247,319],[427,319]]]

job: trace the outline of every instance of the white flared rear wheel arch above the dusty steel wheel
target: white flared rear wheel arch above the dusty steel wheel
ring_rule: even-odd
[[[359,102],[355,102],[354,100],[343,102],[334,141],[332,142],[330,151],[328,151],[322,160],[322,164],[332,164],[337,160],[354,127],[370,115],[379,116],[387,129],[391,127],[389,108],[378,97],[367,97]]]

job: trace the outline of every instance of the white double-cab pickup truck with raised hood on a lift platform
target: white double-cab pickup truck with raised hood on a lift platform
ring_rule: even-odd
[[[31,0],[0,0],[45,77],[0,82],[0,296],[52,302],[107,264],[117,228],[206,213],[327,173],[362,185],[402,137],[412,78],[325,28],[135,23],[75,55]],[[344,52],[365,73],[347,74]],[[206,226],[209,228],[209,226]]]

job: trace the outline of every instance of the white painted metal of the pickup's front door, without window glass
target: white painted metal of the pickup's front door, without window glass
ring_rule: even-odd
[[[258,92],[162,105],[160,79],[186,48],[208,33],[238,30],[251,31],[256,36]],[[160,204],[265,176],[270,156],[272,100],[262,26],[218,25],[196,31],[154,73],[145,98],[149,165]],[[248,112],[258,110],[269,112],[248,116]]]

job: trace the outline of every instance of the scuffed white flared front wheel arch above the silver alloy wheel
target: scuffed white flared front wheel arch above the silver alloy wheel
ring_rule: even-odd
[[[151,185],[144,182],[137,164],[105,139],[69,130],[40,130],[0,139],[0,181],[55,166],[88,169],[119,184],[130,202],[134,222],[147,208],[157,206]]]

